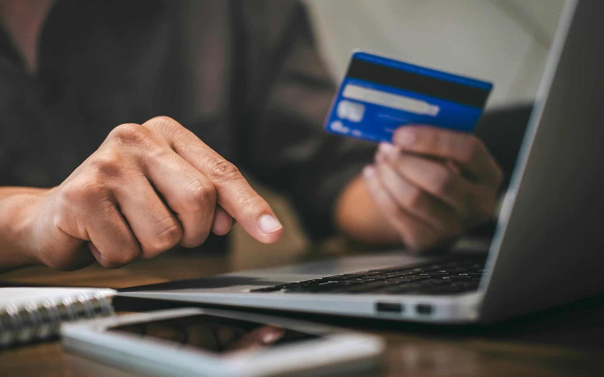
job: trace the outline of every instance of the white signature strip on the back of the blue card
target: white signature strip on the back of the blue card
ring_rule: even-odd
[[[381,92],[380,90],[367,89],[366,87],[346,84],[342,97],[351,100],[363,101],[392,109],[403,110],[422,115],[439,115],[440,107],[431,105],[426,101],[415,100],[403,95]]]

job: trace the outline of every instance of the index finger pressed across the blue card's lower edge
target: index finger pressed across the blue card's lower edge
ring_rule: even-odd
[[[392,140],[404,151],[453,160],[475,180],[501,182],[499,165],[483,142],[471,133],[430,125],[405,125],[394,131]]]

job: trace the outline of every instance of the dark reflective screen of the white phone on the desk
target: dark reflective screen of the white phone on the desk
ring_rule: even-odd
[[[320,338],[318,335],[294,331],[281,326],[207,314],[116,326],[109,331],[171,341],[216,353],[274,347],[294,341]]]

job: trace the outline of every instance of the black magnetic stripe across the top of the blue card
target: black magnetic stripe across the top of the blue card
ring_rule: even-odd
[[[489,90],[353,59],[347,77],[422,93],[469,106],[484,107]]]

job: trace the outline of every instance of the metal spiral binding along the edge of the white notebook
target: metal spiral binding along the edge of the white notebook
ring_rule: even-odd
[[[8,305],[0,311],[0,347],[44,340],[59,333],[62,322],[114,315],[111,299],[101,293],[82,293],[41,305]]]

